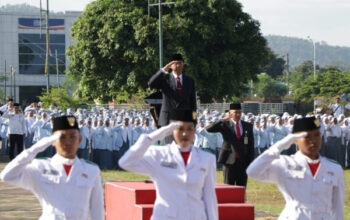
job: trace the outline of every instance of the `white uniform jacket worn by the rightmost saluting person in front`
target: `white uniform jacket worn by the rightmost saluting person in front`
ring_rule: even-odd
[[[280,155],[273,145],[247,169],[257,180],[277,184],[286,206],[279,219],[343,220],[345,181],[342,168],[320,156],[313,177],[306,156],[298,151],[293,156]]]

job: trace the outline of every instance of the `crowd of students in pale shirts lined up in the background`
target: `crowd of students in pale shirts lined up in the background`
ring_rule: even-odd
[[[0,118],[0,135],[2,139],[1,153],[9,153],[9,134],[12,109],[4,105],[5,114]],[[6,111],[6,108],[7,111]],[[33,103],[24,108],[24,148],[29,148],[43,137],[51,135],[52,118],[62,115],[73,115],[77,118],[82,135],[78,156],[91,160],[101,169],[118,169],[119,158],[132,146],[143,133],[156,129],[154,120],[148,110],[109,110],[92,109],[58,109],[51,105],[43,109]],[[223,138],[220,133],[209,133],[205,127],[216,120],[221,120],[226,113],[218,111],[199,111],[194,146],[218,155]],[[321,155],[337,161],[342,167],[350,166],[350,126],[344,114],[338,117],[315,115],[321,125],[322,148]],[[272,144],[281,140],[292,131],[294,119],[301,115],[243,114],[242,120],[253,124],[255,157],[263,153]],[[162,144],[162,143],[157,143]],[[293,145],[282,154],[292,155],[297,151]],[[17,147],[15,154],[21,151]],[[41,152],[38,157],[51,157],[55,154],[53,147]]]

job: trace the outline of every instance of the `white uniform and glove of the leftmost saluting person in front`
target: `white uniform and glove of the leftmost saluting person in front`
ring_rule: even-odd
[[[58,154],[45,160],[34,159],[48,146],[38,150],[36,145],[13,159],[1,172],[1,179],[33,192],[43,208],[40,220],[104,219],[99,168],[76,157],[67,177],[63,167],[67,159]]]

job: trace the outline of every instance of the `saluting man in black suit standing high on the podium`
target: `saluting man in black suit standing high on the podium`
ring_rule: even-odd
[[[158,120],[159,126],[169,124],[169,111],[173,109],[196,111],[196,90],[194,80],[182,74],[184,60],[181,54],[174,54],[172,61],[154,74],[148,86],[160,89],[163,94],[162,107]],[[169,70],[172,70],[169,73]]]

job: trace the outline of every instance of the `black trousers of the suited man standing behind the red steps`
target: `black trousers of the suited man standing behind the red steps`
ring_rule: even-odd
[[[229,185],[247,186],[248,176],[244,162],[237,159],[233,165],[223,166],[224,183]]]

